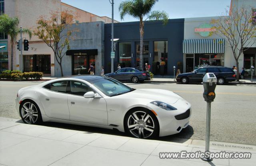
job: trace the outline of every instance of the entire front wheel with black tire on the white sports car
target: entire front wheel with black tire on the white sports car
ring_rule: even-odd
[[[133,113],[137,115],[137,118],[140,121],[134,120],[134,118],[136,119],[136,117]],[[146,117],[146,121],[143,121],[142,118]],[[128,127],[128,124],[130,126],[130,129]],[[131,125],[135,126],[131,127]],[[154,115],[154,113],[152,113],[152,111],[143,107],[137,107],[128,111],[124,118],[124,129],[126,133],[136,138],[150,139],[159,136],[159,123],[156,116]]]

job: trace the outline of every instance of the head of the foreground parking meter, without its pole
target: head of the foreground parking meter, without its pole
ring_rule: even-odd
[[[213,102],[215,98],[215,88],[217,85],[217,78],[213,73],[206,73],[203,78],[204,85],[204,100],[206,102]]]

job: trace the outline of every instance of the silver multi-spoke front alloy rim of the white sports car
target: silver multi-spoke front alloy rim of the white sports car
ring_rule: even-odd
[[[153,134],[155,125],[148,113],[136,111],[128,118],[128,129],[137,138],[148,138]]]

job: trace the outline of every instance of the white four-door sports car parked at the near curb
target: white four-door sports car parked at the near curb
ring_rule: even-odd
[[[22,88],[16,109],[24,123],[54,121],[118,129],[138,138],[179,133],[191,105],[161,89],[133,89],[105,76],[58,78]]]

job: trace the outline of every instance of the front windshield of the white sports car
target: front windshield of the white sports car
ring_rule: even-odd
[[[125,84],[122,84],[119,81],[106,77],[102,77],[97,80],[92,80],[90,81],[90,83],[96,86],[96,88],[98,88],[102,93],[110,97],[128,93],[135,90],[133,88],[130,88],[129,86],[126,86]]]

